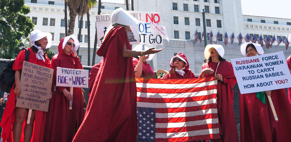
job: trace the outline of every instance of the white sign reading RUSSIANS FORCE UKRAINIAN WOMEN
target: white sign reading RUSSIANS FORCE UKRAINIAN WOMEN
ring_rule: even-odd
[[[283,51],[231,59],[241,94],[288,88],[291,75]]]

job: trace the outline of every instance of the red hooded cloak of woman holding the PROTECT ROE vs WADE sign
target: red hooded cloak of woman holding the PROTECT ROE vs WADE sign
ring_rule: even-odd
[[[71,57],[62,49],[64,38],[58,46],[59,54],[51,59],[51,66],[54,69],[52,89],[56,86],[57,67],[83,69],[79,57]],[[47,121],[44,131],[44,142],[70,142],[76,134],[84,118],[82,88],[74,87],[73,105],[69,110],[69,101],[63,94],[63,90],[70,92],[70,87],[56,87],[55,95],[52,97]]]

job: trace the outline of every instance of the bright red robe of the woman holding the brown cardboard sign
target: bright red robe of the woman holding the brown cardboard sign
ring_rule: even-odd
[[[44,62],[43,60],[38,60],[38,58],[36,57],[35,53],[33,52],[33,50],[31,48],[28,48],[28,50],[29,50],[28,62],[38,64],[41,66],[45,66],[45,67],[49,67],[49,68],[51,67],[50,59],[47,57],[47,55],[45,55],[45,62]],[[25,60],[25,50],[21,50],[13,63],[12,69],[13,70],[21,70],[22,63],[24,60]],[[15,85],[15,83],[14,83],[14,85]],[[15,109],[15,104],[16,104],[15,93],[14,93],[14,89],[13,89],[14,85],[11,88],[11,91],[10,91],[10,94],[8,97],[8,101],[7,101],[7,105],[6,105],[6,108],[4,110],[1,124],[0,124],[0,126],[2,127],[1,137],[3,138],[3,142],[4,141],[8,141],[8,142],[13,141],[12,128],[13,128],[13,124],[15,122],[14,109]],[[46,114],[47,114],[47,112],[35,110],[34,128],[33,128],[31,141],[34,141],[34,142],[42,142],[43,141],[44,124],[45,124]],[[23,134],[24,127],[25,127],[25,121],[23,122],[20,141],[24,140],[24,134]]]

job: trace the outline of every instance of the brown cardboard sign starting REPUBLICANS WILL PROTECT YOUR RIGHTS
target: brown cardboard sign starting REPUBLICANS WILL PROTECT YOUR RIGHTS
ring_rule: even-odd
[[[23,61],[16,107],[48,111],[54,69]]]

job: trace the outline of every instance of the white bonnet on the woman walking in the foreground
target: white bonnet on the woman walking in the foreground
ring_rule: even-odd
[[[139,21],[126,12],[123,8],[117,8],[111,15],[111,24],[122,24],[126,26],[133,26],[139,23]]]

